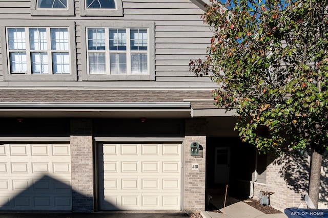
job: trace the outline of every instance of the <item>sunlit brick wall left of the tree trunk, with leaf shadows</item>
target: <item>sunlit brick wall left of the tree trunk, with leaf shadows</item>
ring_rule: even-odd
[[[273,191],[271,206],[280,211],[304,204],[309,188],[309,158],[295,154],[268,155],[267,190]]]

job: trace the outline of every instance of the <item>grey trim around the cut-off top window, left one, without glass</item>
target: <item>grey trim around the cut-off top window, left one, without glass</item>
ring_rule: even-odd
[[[67,9],[37,8],[38,0],[31,0],[32,16],[74,16],[74,1],[67,0]]]

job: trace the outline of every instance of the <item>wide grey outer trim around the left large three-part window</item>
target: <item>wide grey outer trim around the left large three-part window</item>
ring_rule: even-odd
[[[0,27],[2,58],[3,63],[3,77],[4,80],[76,80],[76,49],[75,49],[75,24],[74,21],[56,21],[56,24],[49,21],[38,20],[29,23],[19,23],[13,20],[4,21],[6,26]],[[67,28],[69,31],[69,61],[70,61],[70,74],[11,74],[9,72],[10,58],[8,57],[8,45],[7,45],[7,28]],[[29,43],[29,42],[26,42]],[[31,68],[31,63],[28,65]]]

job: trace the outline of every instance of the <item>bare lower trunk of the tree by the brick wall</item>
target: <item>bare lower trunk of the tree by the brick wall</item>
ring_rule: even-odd
[[[309,197],[316,208],[318,208],[318,203],[319,203],[321,164],[322,164],[322,155],[319,154],[319,152],[317,152],[315,149],[313,149],[312,156],[311,156]]]

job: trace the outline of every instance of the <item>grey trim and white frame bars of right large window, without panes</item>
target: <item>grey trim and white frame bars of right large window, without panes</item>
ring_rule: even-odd
[[[155,80],[155,25],[153,22],[132,22],[128,23],[125,21],[107,21],[105,23],[101,22],[98,26],[98,23],[94,23],[92,21],[87,21],[81,24],[81,51],[85,51],[85,59],[86,61],[82,61],[83,66],[83,80]],[[106,49],[104,52],[106,54],[106,74],[89,74],[89,52],[88,51],[88,29],[105,29],[105,44]],[[119,50],[109,50],[109,29],[126,29],[127,33],[127,50],[119,51]],[[130,37],[128,38],[128,34],[130,34],[130,29],[147,29],[148,34],[148,45],[146,50],[136,50],[136,51],[128,51],[130,50]],[[129,49],[128,49],[129,48]],[[99,51],[91,51],[91,52],[99,52]],[[127,74],[110,74],[110,53],[127,53]],[[131,53],[146,53],[147,52],[147,74],[131,74]]]

